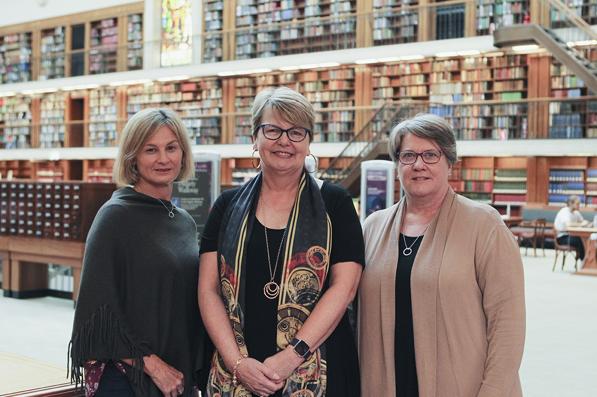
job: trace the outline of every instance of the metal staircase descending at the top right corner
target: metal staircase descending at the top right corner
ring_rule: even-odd
[[[597,68],[572,45],[597,45],[597,32],[559,0],[542,0],[540,24],[516,24],[499,27],[493,33],[498,48],[537,44],[546,48],[567,66],[586,86],[597,92]]]

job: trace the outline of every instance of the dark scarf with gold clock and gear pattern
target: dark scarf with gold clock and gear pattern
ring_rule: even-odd
[[[261,179],[259,173],[243,185],[230,202],[222,218],[218,241],[222,295],[242,354],[247,353],[243,336],[245,253],[253,229]],[[286,348],[309,317],[321,296],[330,268],[330,218],[317,182],[305,170],[286,230],[283,242],[284,268],[278,295],[278,351]],[[325,384],[325,346],[322,345],[286,380],[282,395],[324,397]],[[211,363],[208,396],[251,396],[242,383],[236,389],[232,387],[232,374],[217,351]]]

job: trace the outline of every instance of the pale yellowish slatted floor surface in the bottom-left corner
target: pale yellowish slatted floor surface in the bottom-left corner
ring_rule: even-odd
[[[68,383],[66,367],[0,352],[0,395]]]

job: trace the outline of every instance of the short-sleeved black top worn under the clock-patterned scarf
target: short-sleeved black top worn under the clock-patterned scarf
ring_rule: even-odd
[[[205,222],[199,253],[217,251],[222,214],[238,188],[224,191],[214,203]],[[330,263],[356,262],[364,265],[364,242],[361,223],[356,215],[352,198],[344,188],[324,182],[321,195],[332,223],[332,250]],[[272,271],[282,241],[284,229],[267,229]],[[281,282],[284,254],[281,253],[274,281]],[[253,222],[253,231],[247,251],[247,279],[245,294],[244,336],[248,355],[261,362],[276,353],[278,326],[278,299],[267,299],[263,287],[270,281],[264,227]],[[326,279],[322,293],[328,289]],[[325,341],[327,353],[327,397],[361,394],[356,343],[345,313],[336,329]],[[278,390],[273,396],[281,396]]]

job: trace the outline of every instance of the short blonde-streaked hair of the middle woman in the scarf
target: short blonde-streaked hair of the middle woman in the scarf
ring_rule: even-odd
[[[251,117],[253,119],[253,139],[257,139],[261,119],[266,114],[278,116],[296,127],[309,129],[309,142],[313,141],[315,128],[315,110],[299,92],[288,87],[267,87],[259,92],[251,104]]]

